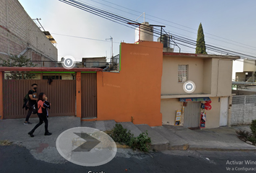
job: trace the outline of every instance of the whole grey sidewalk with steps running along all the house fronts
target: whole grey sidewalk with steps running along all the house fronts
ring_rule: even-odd
[[[92,121],[80,122],[79,117],[49,117],[49,127],[52,136],[43,136],[44,126],[41,125],[35,130],[35,137],[30,138],[27,133],[38,123],[38,118],[30,118],[32,125],[23,125],[24,119],[0,120],[0,141],[9,140],[30,151],[35,159],[54,164],[64,164],[67,161],[60,156],[56,150],[56,138],[69,128],[90,127],[99,130],[111,130],[116,122]],[[232,128],[216,128],[204,130],[189,130],[179,126],[163,125],[152,127],[148,125],[134,125],[132,123],[121,123],[124,128],[131,130],[138,136],[148,131],[152,139],[152,148],[161,150],[213,150],[213,151],[256,151],[256,147],[240,141],[236,137],[235,130],[249,130],[248,126]],[[129,157],[138,151],[131,151],[129,154],[118,148],[118,155]],[[139,152],[140,153],[140,152]]]

